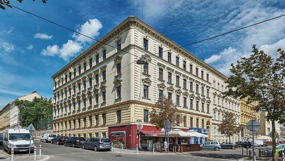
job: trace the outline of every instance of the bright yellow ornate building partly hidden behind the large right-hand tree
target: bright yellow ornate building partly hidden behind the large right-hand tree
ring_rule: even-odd
[[[259,112],[255,112],[252,110],[255,106],[257,106],[257,101],[247,104],[247,98],[243,98],[240,100],[241,102],[241,125],[243,125],[243,131],[241,132],[241,140],[247,140],[252,137],[252,132],[249,131],[246,127],[247,122],[252,119],[260,120]]]

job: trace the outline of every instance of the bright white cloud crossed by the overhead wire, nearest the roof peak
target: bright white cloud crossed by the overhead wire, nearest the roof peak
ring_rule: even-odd
[[[90,19],[89,21],[86,21],[83,25],[80,25],[76,31],[86,36],[89,36],[91,38],[94,38],[95,36],[99,35],[98,31],[101,28],[102,28],[101,22],[97,20],[96,18],[94,18],[94,19]],[[74,37],[75,40],[78,42],[92,42],[93,41],[92,39],[87,38],[86,36],[75,34],[75,33],[72,35],[72,37]]]

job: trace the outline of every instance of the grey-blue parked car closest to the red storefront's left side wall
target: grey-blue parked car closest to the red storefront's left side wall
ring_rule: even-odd
[[[98,150],[110,150],[111,149],[111,140],[108,138],[90,138],[82,143],[82,149],[94,149]]]

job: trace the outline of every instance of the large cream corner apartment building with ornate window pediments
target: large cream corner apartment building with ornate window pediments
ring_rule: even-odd
[[[175,128],[210,129],[207,139],[222,142],[228,140],[218,132],[223,114],[234,113],[240,123],[239,100],[222,98],[227,77],[137,17],[99,41],[52,76],[54,133],[108,137],[131,149],[147,139],[163,141],[156,137],[163,129],[148,115],[163,94],[184,115]],[[146,63],[135,63],[141,57]]]

